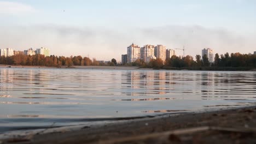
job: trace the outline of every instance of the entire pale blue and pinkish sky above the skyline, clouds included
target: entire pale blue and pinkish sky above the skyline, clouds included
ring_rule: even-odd
[[[120,61],[131,43],[184,46],[193,57],[208,47],[253,53],[255,8],[254,0],[0,0],[0,49],[104,61]]]

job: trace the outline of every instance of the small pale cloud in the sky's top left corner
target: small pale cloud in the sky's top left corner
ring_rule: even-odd
[[[0,2],[0,14],[20,14],[20,13],[30,13],[35,9],[27,4],[22,4],[18,2]]]

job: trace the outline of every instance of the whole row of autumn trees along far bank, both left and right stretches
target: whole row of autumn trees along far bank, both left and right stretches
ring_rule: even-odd
[[[73,65],[117,65],[117,61],[113,58],[108,63],[97,61],[96,58],[90,59],[89,57],[82,56],[44,56],[44,55],[15,55],[10,57],[0,56],[0,64],[7,65],[36,65],[46,67],[61,67],[66,65],[71,67]],[[225,53],[219,55],[216,53],[214,63],[210,63],[206,55],[196,55],[195,60],[193,56],[178,57],[172,56],[171,58],[162,61],[162,59],[151,59],[149,63],[145,63],[141,59],[126,64],[128,66],[138,66],[142,68],[201,68],[201,67],[256,67],[256,55],[241,54],[241,53]]]

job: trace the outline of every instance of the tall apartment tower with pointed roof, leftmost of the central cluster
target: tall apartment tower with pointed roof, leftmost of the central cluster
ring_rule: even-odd
[[[132,43],[127,47],[127,63],[135,62],[139,58],[141,58],[141,47]]]

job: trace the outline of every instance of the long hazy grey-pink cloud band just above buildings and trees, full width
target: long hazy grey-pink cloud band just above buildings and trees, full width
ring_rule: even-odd
[[[53,55],[82,55],[97,59],[120,60],[131,43],[163,44],[168,49],[185,46],[186,55],[201,55],[210,47],[214,52],[253,52],[256,42],[253,35],[237,34],[223,28],[203,26],[162,26],[151,28],[75,27],[63,25],[36,25],[1,27],[1,47],[25,50],[30,47],[48,47]],[[177,50],[178,55],[182,51]]]

